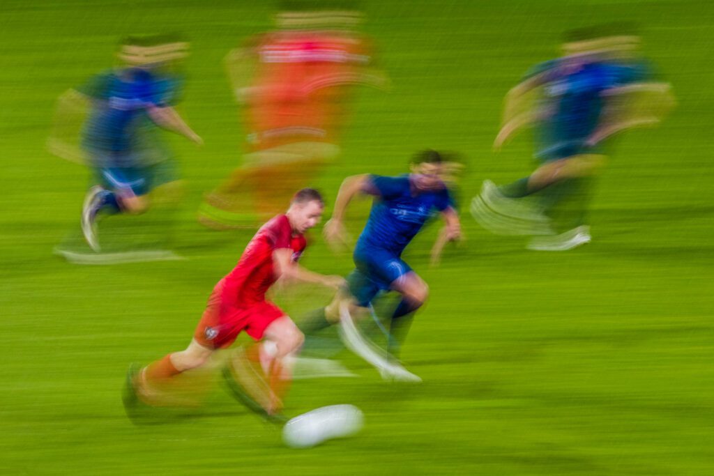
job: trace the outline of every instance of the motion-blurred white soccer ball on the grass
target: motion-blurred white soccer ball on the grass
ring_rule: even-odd
[[[354,405],[320,407],[294,417],[283,427],[283,441],[293,448],[309,448],[332,438],[354,435],[364,417]]]

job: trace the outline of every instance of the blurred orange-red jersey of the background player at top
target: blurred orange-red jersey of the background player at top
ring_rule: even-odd
[[[295,141],[335,141],[351,87],[370,62],[358,36],[321,31],[258,40],[255,85],[270,91],[246,111],[258,150]]]

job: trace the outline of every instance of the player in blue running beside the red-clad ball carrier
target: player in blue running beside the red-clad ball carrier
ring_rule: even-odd
[[[373,196],[370,216],[358,238],[353,258],[355,270],[348,276],[348,289],[338,293],[333,303],[313,314],[306,330],[314,331],[342,320],[344,324],[360,310],[371,308],[372,300],[381,292],[395,291],[401,301],[391,315],[390,348],[393,355],[411,323],[413,313],[428,296],[428,286],[402,259],[406,246],[433,216],[441,215],[445,226],[440,240],[461,238],[461,224],[446,183],[453,164],[443,160],[441,153],[423,151],[411,164],[411,173],[386,177],[360,175],[346,178],[336,199],[333,216],[325,225],[328,241],[345,238],[343,217],[348,204],[358,195]],[[354,328],[352,330],[355,330]],[[361,336],[352,332],[348,346],[381,370],[385,378],[418,380],[396,361],[378,358]],[[353,340],[353,339],[356,339]]]

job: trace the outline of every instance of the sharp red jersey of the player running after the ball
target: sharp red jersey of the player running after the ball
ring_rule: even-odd
[[[265,300],[266,291],[278,280],[273,268],[273,251],[289,248],[293,250],[293,261],[297,261],[306,244],[302,233],[293,236],[286,215],[272,218],[261,226],[236,267],[223,278],[223,303],[243,308]]]

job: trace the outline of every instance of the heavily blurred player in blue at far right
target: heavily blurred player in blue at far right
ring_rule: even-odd
[[[528,244],[533,250],[568,250],[590,241],[587,205],[608,139],[657,123],[672,103],[669,85],[653,81],[638,57],[640,39],[630,30],[618,24],[571,31],[562,57],[538,64],[508,92],[494,146],[501,148],[516,131],[535,125],[540,166],[506,186],[483,183],[471,203],[482,226],[494,233],[536,235]],[[533,92],[540,95],[536,106],[528,103]],[[535,193],[538,206],[521,200]]]

